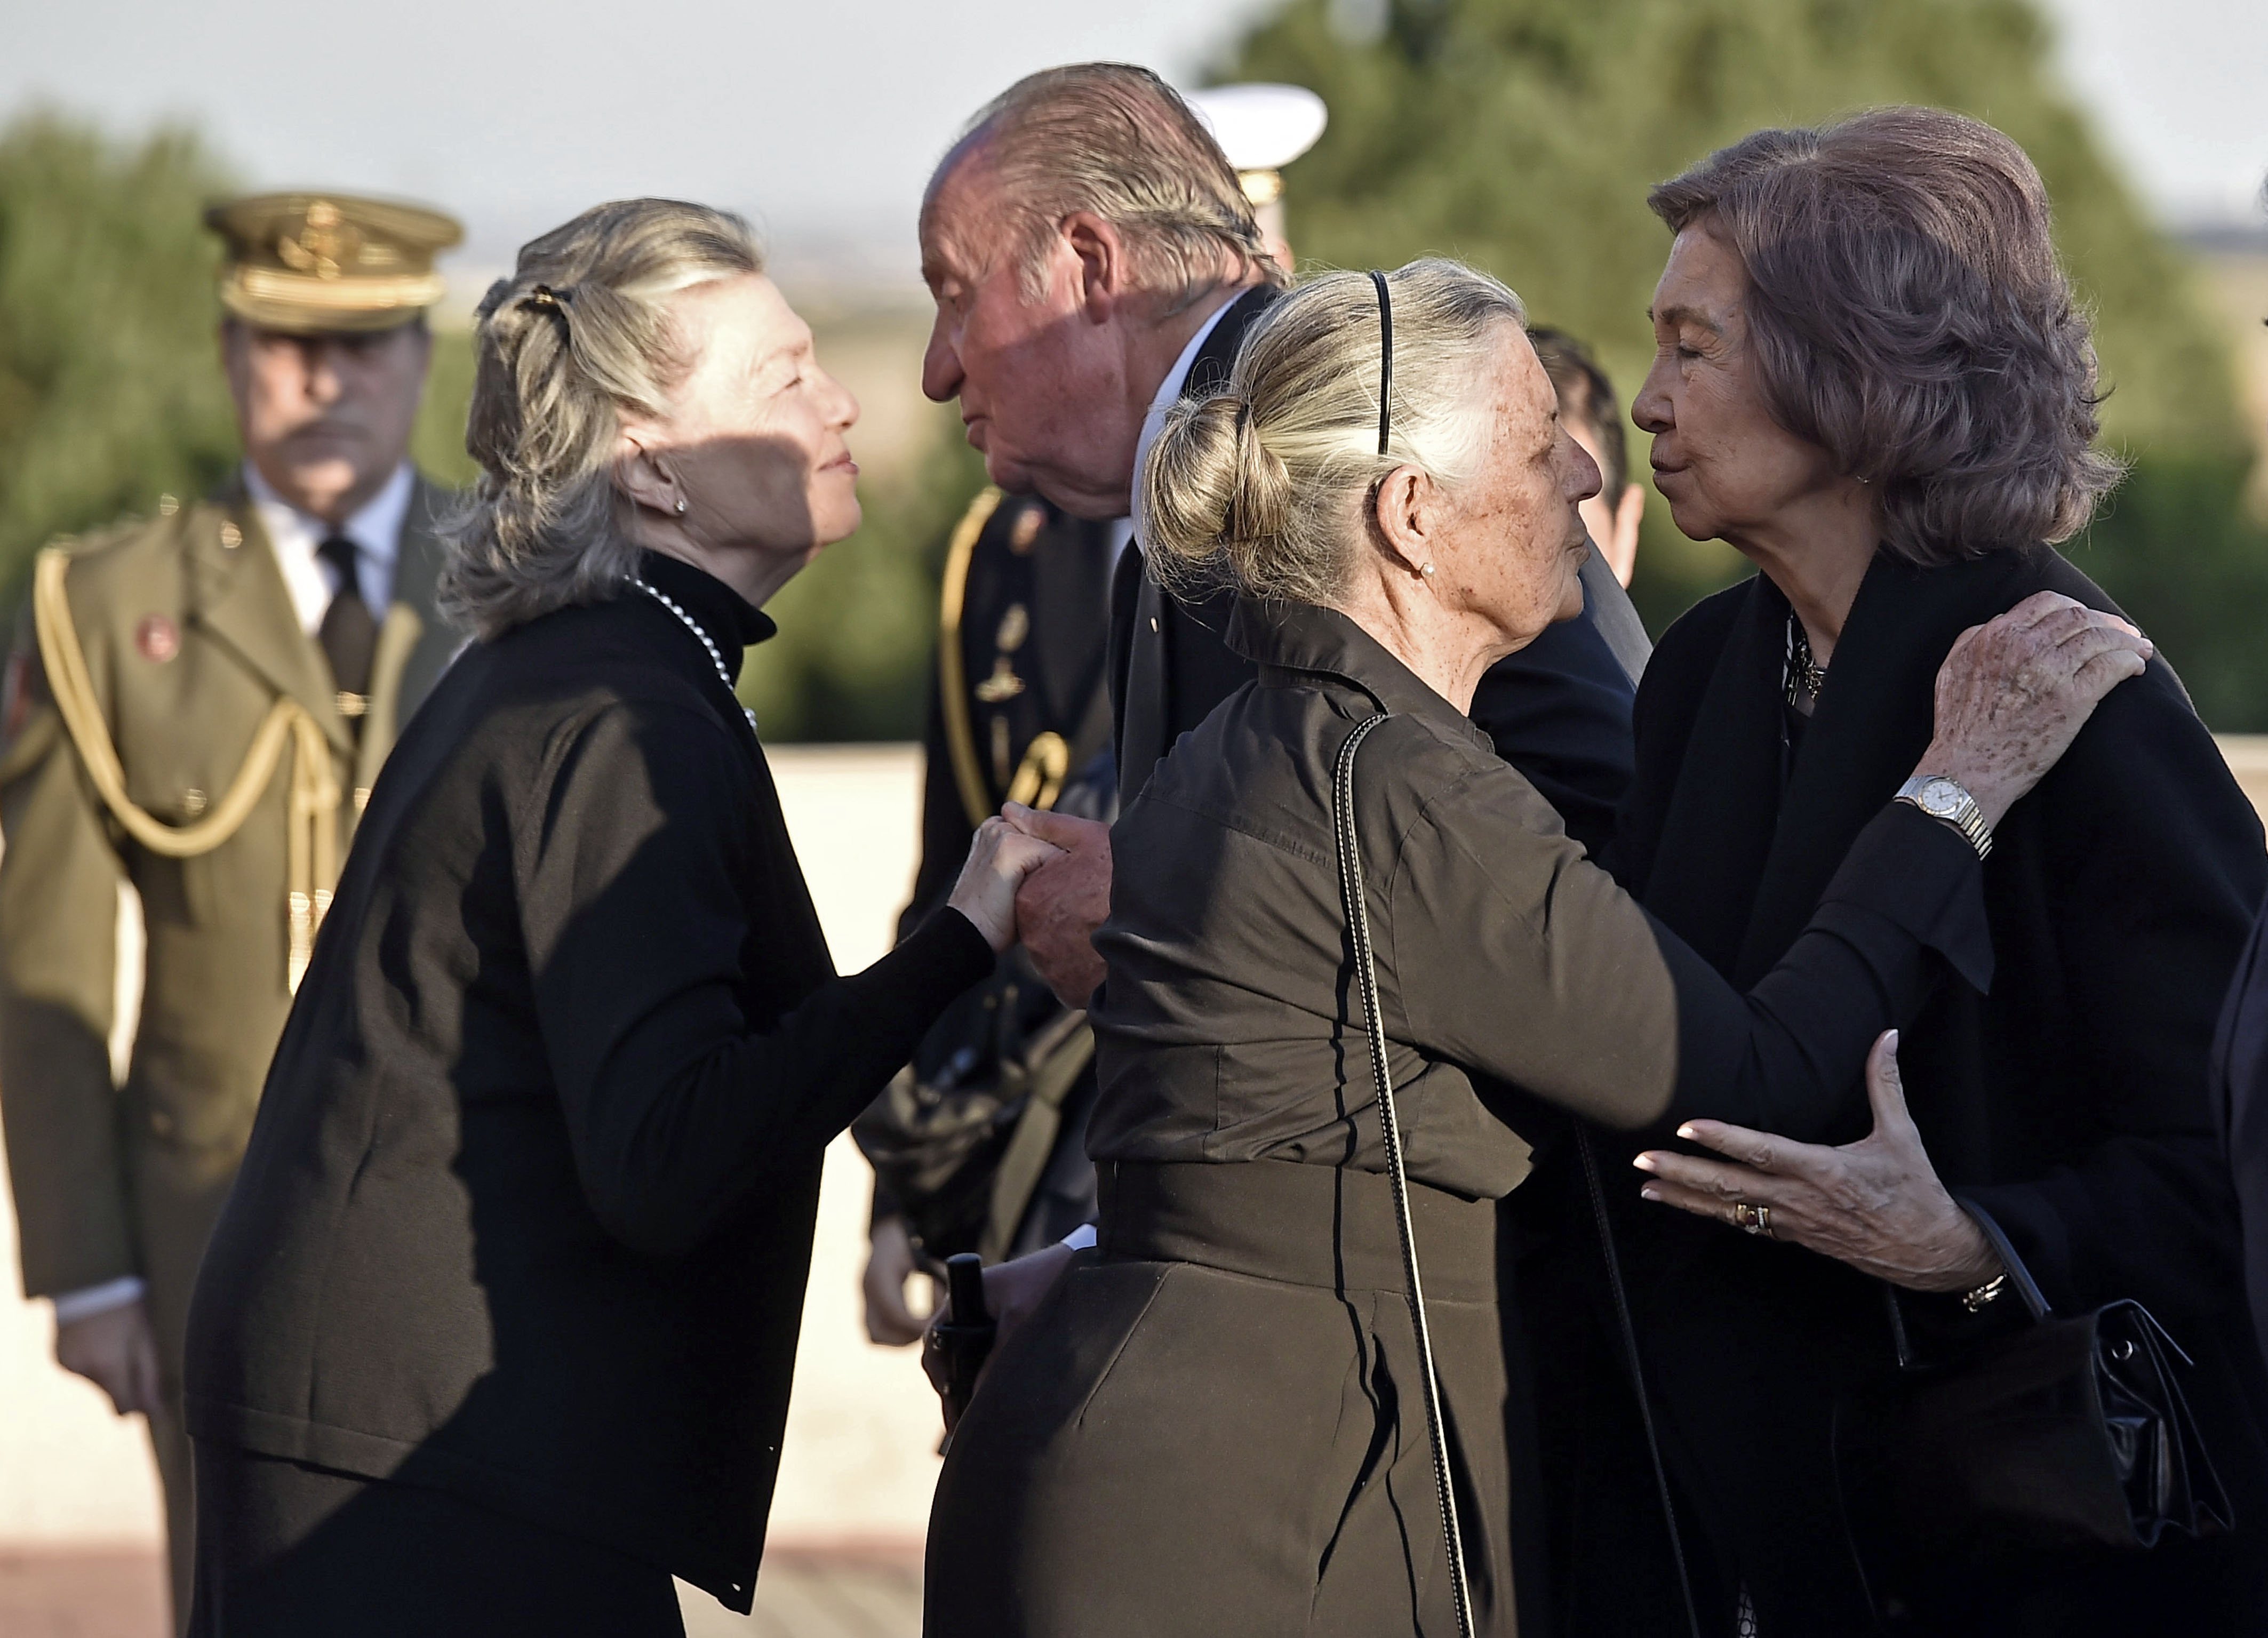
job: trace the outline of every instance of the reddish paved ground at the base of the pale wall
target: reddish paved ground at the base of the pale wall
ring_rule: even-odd
[[[680,1588],[687,1638],[919,1638],[912,1552],[776,1552],[755,1613]],[[0,1638],[166,1638],[166,1588],[147,1552],[0,1552]]]

